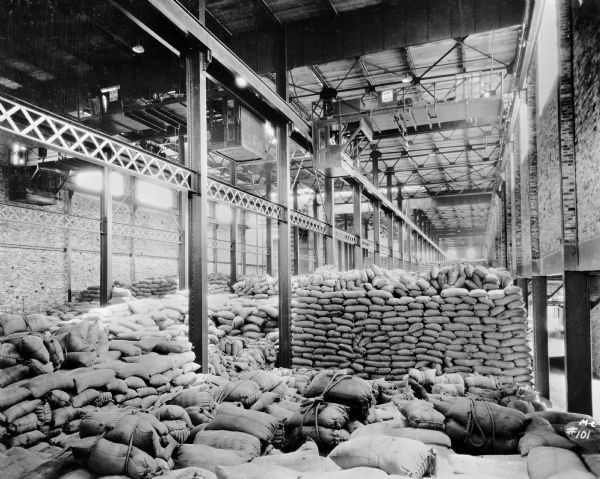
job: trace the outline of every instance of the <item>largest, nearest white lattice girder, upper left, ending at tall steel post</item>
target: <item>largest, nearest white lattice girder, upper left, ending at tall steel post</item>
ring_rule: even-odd
[[[180,190],[192,171],[101,132],[0,96],[0,130],[24,140]]]

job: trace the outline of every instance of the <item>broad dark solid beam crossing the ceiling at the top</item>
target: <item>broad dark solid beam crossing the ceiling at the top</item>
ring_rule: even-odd
[[[520,25],[525,0],[405,0],[289,22],[288,68],[350,59],[448,38]],[[252,30],[231,48],[259,74],[275,70],[275,32]]]

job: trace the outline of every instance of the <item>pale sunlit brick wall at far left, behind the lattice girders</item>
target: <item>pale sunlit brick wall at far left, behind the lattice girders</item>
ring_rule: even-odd
[[[2,158],[0,158],[0,161]],[[62,226],[67,217],[68,192],[54,206],[10,202],[7,169],[0,168],[0,208],[10,208],[11,219],[0,220],[0,312],[43,311],[67,301],[76,292],[100,283],[100,200],[98,195],[72,193],[70,217],[84,228]],[[31,215],[48,221],[32,224]],[[127,199],[113,201],[114,221],[177,232],[177,212],[134,207]],[[114,235],[113,279],[130,281],[178,273],[178,244]],[[67,253],[70,247],[70,261]]]

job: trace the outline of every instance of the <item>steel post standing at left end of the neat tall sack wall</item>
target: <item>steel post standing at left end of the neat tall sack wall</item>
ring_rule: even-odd
[[[277,94],[288,101],[287,48],[285,30],[281,30],[281,38],[276,49]],[[285,208],[283,218],[278,221],[278,277],[279,277],[279,367],[289,368],[292,365],[291,334],[291,289],[290,274],[290,157],[288,152],[289,125],[281,122],[276,125],[277,135],[277,189],[279,204]]]

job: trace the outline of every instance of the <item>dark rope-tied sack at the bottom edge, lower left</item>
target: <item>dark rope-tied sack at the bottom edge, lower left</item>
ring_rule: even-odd
[[[161,473],[151,456],[137,447],[106,439],[87,437],[71,446],[75,460],[99,476],[125,474],[132,479],[148,479]]]

